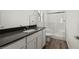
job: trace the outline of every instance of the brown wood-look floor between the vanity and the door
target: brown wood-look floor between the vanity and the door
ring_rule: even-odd
[[[49,38],[50,41],[46,42],[44,49],[68,49],[66,41]]]

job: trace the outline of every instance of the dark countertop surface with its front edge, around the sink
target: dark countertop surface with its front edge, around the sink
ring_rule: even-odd
[[[22,30],[22,31],[15,31],[15,32],[11,32],[11,33],[2,34],[2,35],[0,35],[0,48],[3,46],[6,46],[8,44],[12,44],[15,41],[18,41],[24,37],[32,35],[43,29],[45,29],[45,27],[37,27],[35,29],[35,31],[30,32],[30,33],[23,32],[23,30]]]

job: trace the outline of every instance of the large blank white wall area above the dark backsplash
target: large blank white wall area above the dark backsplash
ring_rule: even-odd
[[[1,25],[4,28],[18,27],[20,25],[29,25],[29,16],[33,10],[2,10]]]

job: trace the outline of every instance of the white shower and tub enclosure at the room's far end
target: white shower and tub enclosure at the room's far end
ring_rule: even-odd
[[[66,17],[65,12],[48,12],[46,25],[46,35],[54,39],[65,40]]]

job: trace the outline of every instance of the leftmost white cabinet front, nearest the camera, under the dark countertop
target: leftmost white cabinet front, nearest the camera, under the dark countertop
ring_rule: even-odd
[[[3,47],[2,49],[25,49],[25,48],[26,48],[26,39],[23,38],[10,45]]]

